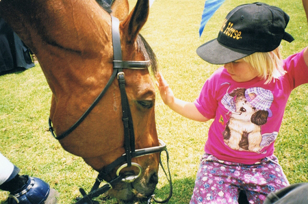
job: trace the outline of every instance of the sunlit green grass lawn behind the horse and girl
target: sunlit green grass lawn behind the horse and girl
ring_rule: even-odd
[[[136,1],[131,0],[131,5]],[[157,55],[159,69],[179,99],[194,101],[204,81],[218,66],[207,64],[196,55],[196,48],[216,38],[227,13],[242,3],[227,0],[205,27],[201,38],[198,27],[204,1],[155,0],[142,35]],[[301,1],[264,1],[277,5],[290,15],[287,31],[296,39],[283,42],[283,56],[301,51],[307,42],[307,21]],[[308,182],[308,86],[300,86],[287,103],[281,131],[275,144],[290,183]],[[48,132],[47,118],[51,91],[40,66],[0,77],[0,152],[21,168],[21,174],[40,177],[60,192],[61,204],[74,203],[79,187],[90,190],[97,173],[79,157],[62,149]],[[208,123],[188,120],[172,112],[158,96],[156,122],[159,138],[170,154],[173,196],[169,203],[189,203],[198,163],[207,140]],[[159,171],[155,194],[168,195],[168,181]],[[4,204],[6,192],[0,192]],[[101,203],[118,203],[116,199]]]

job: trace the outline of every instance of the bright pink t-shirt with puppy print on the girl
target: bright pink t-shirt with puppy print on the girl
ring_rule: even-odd
[[[219,160],[255,164],[274,152],[285,105],[292,90],[308,83],[303,51],[284,60],[287,73],[269,84],[258,77],[234,81],[223,67],[205,81],[194,101],[206,118],[214,118],[205,152]]]

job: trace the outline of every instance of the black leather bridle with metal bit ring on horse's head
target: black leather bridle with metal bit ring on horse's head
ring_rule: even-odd
[[[154,195],[150,196],[148,199],[148,203],[151,203],[151,200],[153,199],[157,203],[167,203],[172,196],[172,181],[171,181],[171,175],[169,170],[169,155],[168,151],[166,149],[166,144],[159,140],[159,146],[153,146],[145,149],[135,149],[135,136],[133,132],[133,120],[131,117],[131,110],[129,108],[129,103],[127,99],[127,94],[125,91],[125,73],[123,72],[123,68],[129,68],[129,69],[146,69],[148,68],[150,62],[149,61],[123,61],[122,60],[122,50],[121,50],[121,44],[120,44],[120,32],[119,32],[119,21],[118,18],[112,16],[112,43],[113,43],[113,49],[114,49],[114,71],[112,73],[112,76],[110,77],[109,81],[107,82],[105,88],[102,90],[102,92],[99,94],[97,99],[94,100],[92,105],[84,112],[84,114],[77,120],[77,122],[72,125],[68,130],[64,131],[60,136],[55,136],[55,133],[53,131],[51,119],[49,118],[49,131],[51,131],[52,136],[57,139],[61,140],[68,136],[72,131],[74,131],[81,123],[82,121],[90,114],[92,109],[99,103],[107,89],[111,86],[114,79],[118,79],[118,84],[120,87],[120,96],[121,96],[121,103],[122,103],[122,109],[123,109],[123,125],[124,125],[124,146],[125,146],[125,154],[123,154],[121,157],[118,157],[114,162],[111,164],[103,167],[101,171],[99,171],[99,175],[97,176],[97,179],[94,183],[94,186],[90,190],[88,194],[86,194],[85,190],[83,188],[80,188],[81,194],[84,196],[83,198],[77,199],[77,203],[75,204],[81,204],[81,203],[92,203],[92,198],[97,197],[104,192],[107,192],[111,188],[113,188],[116,183],[120,181],[124,181],[127,183],[131,183],[135,181],[142,173],[142,168],[140,164],[136,164],[134,162],[131,162],[131,158],[133,157],[141,157],[144,155],[149,155],[153,153],[159,153],[159,164],[162,166],[162,169],[164,170],[164,173],[170,183],[170,193],[168,195],[168,198],[164,201],[157,201],[154,198]],[[167,157],[167,166],[168,166],[168,175],[166,173],[166,170],[164,169],[164,166],[162,165],[161,161],[161,153],[162,151],[166,152]],[[126,162],[126,163],[125,163]],[[124,164],[123,164],[124,163]],[[122,165],[122,166],[120,166]],[[116,171],[116,177],[109,181],[107,184],[99,188],[101,182],[103,181],[103,178],[107,177],[114,168],[117,166],[120,166],[118,170]],[[130,167],[130,166],[136,166],[139,170],[138,175],[129,175],[124,176],[120,173],[123,168]]]

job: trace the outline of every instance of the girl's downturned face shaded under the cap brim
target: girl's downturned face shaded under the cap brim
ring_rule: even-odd
[[[244,60],[236,60],[224,64],[224,68],[231,75],[232,79],[237,82],[245,82],[254,79],[259,75],[257,71],[251,68],[251,65]]]

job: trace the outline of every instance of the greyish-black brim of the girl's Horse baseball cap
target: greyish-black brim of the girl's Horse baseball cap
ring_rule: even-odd
[[[240,49],[233,49],[225,47],[216,39],[205,42],[196,50],[196,53],[211,64],[227,64],[235,60],[240,60],[248,55],[255,53],[255,51],[245,51]]]

